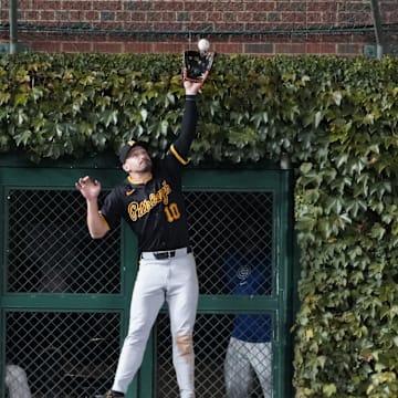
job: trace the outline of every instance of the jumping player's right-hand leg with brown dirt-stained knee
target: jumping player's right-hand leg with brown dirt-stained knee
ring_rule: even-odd
[[[172,363],[181,398],[195,397],[193,326],[198,306],[198,276],[191,253],[172,259],[167,302],[172,338]]]

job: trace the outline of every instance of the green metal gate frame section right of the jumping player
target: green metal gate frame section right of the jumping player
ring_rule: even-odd
[[[243,182],[244,181],[244,182]],[[287,170],[195,170],[185,179],[186,190],[201,191],[266,191],[272,192],[273,210],[273,237],[275,250],[274,258],[276,272],[275,294],[272,297],[255,296],[247,300],[237,300],[235,296],[200,296],[198,313],[240,311],[264,311],[269,310],[277,318],[275,324],[274,339],[274,392],[275,397],[290,397],[291,388],[285,383],[286,376],[291,374],[291,345],[290,332],[286,325],[291,325],[292,306],[291,290],[292,264],[292,213],[291,213],[291,171]],[[283,325],[281,327],[281,325]]]

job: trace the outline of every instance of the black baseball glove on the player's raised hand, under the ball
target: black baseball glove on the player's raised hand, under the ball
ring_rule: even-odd
[[[213,65],[216,53],[187,50],[182,54],[182,80],[205,83]]]

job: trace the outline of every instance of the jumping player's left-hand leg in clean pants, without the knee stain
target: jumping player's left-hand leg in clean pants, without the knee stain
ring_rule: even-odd
[[[113,391],[125,394],[142,365],[150,329],[165,302],[167,268],[154,260],[140,260],[134,285],[129,327],[119,356]]]

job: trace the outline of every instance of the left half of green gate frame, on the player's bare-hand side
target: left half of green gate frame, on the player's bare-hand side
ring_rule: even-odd
[[[85,175],[91,175],[94,178],[98,178],[102,181],[104,189],[111,188],[124,178],[123,172],[118,169],[97,169],[94,168],[64,168],[64,167],[0,167],[0,189],[1,189],[1,203],[0,206],[4,209],[6,191],[7,189],[13,188],[34,188],[34,189],[74,189],[74,182]],[[2,211],[4,214],[4,211]],[[122,289],[119,294],[76,294],[76,293],[63,293],[49,294],[49,293],[7,293],[6,292],[6,261],[4,261],[4,219],[0,226],[0,250],[1,250],[1,263],[0,273],[1,287],[0,287],[0,303],[1,303],[1,336],[4,336],[4,315],[9,311],[49,311],[56,310],[59,312],[119,312],[122,315],[122,329],[121,329],[121,345],[123,336],[127,332],[128,314],[129,314],[129,297],[132,294],[132,284],[129,281],[135,277],[135,269],[126,266],[127,263],[135,263],[136,258],[136,245],[135,244],[123,244],[126,239],[129,243],[135,242],[135,238],[128,229],[122,228]],[[0,341],[0,353],[1,357],[4,358],[6,347],[4,339]],[[0,380],[0,397],[3,397],[1,391],[4,390],[4,360],[0,362],[0,370],[2,378]],[[137,389],[137,383],[132,384],[132,388]]]

